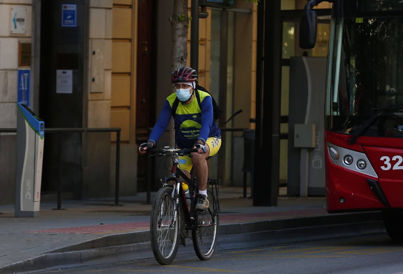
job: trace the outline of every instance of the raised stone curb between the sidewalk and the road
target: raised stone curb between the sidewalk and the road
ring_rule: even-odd
[[[362,212],[280,220],[221,224],[216,250],[259,247],[297,241],[322,240],[384,233],[381,212]],[[193,245],[179,246],[178,253],[193,253]],[[32,259],[0,268],[0,274],[58,266],[101,264],[153,257],[150,232],[106,235],[77,245],[56,249]]]

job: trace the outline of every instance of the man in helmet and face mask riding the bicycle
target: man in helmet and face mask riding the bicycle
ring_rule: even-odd
[[[176,146],[198,149],[198,152],[191,154],[192,157],[179,156],[178,163],[189,178],[190,170],[194,167],[199,189],[196,209],[207,210],[207,159],[217,154],[221,146],[221,131],[213,118],[212,97],[209,93],[196,89],[197,72],[188,66],[173,71],[171,80],[175,92],[166,98],[148,142],[139,146],[139,152],[145,153],[155,146],[172,115]],[[140,148],[144,150],[141,151]]]

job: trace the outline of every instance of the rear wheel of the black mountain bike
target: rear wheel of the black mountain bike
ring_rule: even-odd
[[[213,212],[213,202],[216,199],[216,195],[210,187],[207,188],[207,197],[209,201],[209,209]],[[218,241],[218,224],[219,216],[212,218],[210,212],[196,211],[195,219],[197,220],[197,229],[192,230],[193,248],[199,259],[206,261],[211,258],[216,248]],[[199,226],[201,222],[211,222],[211,226]]]

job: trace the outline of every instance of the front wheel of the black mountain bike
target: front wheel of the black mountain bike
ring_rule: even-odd
[[[172,187],[162,187],[154,198],[151,210],[151,247],[158,263],[170,264],[178,251],[180,214],[171,227],[175,213],[175,199],[171,197]]]

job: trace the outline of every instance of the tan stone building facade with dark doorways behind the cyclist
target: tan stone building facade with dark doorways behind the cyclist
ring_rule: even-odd
[[[282,10],[301,9],[305,3],[282,0]],[[216,98],[223,118],[243,109],[225,127],[253,129],[257,6],[235,0],[228,10],[208,7],[206,12],[208,17],[199,19],[199,85]],[[16,102],[22,100],[46,128],[120,127],[120,195],[144,191],[147,161],[137,155],[137,146],[147,140],[165,98],[173,92],[171,15],[172,0],[1,0],[0,129],[16,127]],[[283,59],[302,54],[296,46],[298,23],[282,24]],[[320,31],[326,32],[326,27]],[[323,43],[312,56],[326,53],[326,33],[318,36]],[[190,28],[187,45],[190,65]],[[27,70],[29,89],[22,90],[17,75]],[[283,116],[288,115],[287,73],[283,66]],[[286,133],[287,124],[281,128]],[[210,175],[224,178],[225,185],[242,185],[242,132],[223,133],[223,139],[220,155],[209,161]],[[163,136],[160,144],[166,141]],[[1,134],[3,204],[14,201],[16,145],[15,133]],[[46,133],[43,197],[54,193],[59,178],[64,198],[112,196],[115,152],[115,133]],[[282,140],[280,161],[287,166],[287,140]],[[287,180],[286,169],[280,179]]]

